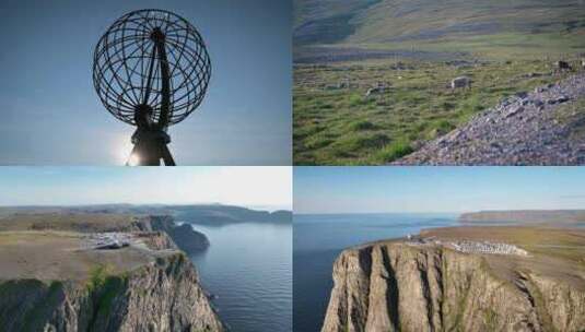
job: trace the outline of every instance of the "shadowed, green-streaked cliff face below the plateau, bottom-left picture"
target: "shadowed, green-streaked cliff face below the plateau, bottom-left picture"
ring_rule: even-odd
[[[223,331],[179,252],[122,275],[0,283],[2,331]]]

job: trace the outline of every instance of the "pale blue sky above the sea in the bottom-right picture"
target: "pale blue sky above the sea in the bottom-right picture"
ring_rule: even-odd
[[[295,167],[295,213],[585,209],[585,167]]]

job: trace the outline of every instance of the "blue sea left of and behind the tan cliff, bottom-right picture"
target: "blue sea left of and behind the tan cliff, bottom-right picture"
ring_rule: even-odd
[[[417,234],[422,228],[456,225],[456,217],[447,214],[295,215],[294,331],[320,330],[334,286],[332,264],[342,249]]]

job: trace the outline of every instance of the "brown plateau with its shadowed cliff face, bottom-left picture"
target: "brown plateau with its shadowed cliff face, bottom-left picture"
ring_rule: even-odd
[[[224,331],[172,240],[134,240],[96,249],[81,234],[1,233],[2,331]]]

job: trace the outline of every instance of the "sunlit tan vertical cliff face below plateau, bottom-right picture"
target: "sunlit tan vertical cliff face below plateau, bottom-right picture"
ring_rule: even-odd
[[[323,332],[583,331],[585,290],[559,278],[493,273],[481,256],[378,242],[334,266]]]

